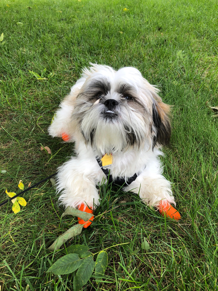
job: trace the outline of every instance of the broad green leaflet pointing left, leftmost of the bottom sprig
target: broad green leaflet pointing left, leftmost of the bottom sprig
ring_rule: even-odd
[[[56,275],[65,275],[76,271],[82,264],[84,259],[80,259],[78,254],[68,254],[57,260],[47,272]]]

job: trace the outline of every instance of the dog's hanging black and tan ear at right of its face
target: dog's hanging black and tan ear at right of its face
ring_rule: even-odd
[[[159,97],[159,96],[158,96]],[[162,100],[153,100],[152,118],[153,126],[156,128],[156,136],[153,139],[153,148],[156,143],[159,145],[169,145],[171,136],[171,125],[169,120],[171,106],[162,102]]]

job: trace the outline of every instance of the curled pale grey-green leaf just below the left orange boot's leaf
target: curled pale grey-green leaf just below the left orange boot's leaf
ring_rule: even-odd
[[[83,224],[75,224],[71,228],[69,228],[65,233],[60,235],[55,242],[51,246],[49,246],[49,251],[55,251],[60,249],[62,244],[66,242],[68,239],[71,239],[72,237],[75,237],[76,235],[79,235],[83,229]]]

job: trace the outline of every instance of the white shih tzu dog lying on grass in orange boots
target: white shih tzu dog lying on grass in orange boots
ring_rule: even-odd
[[[162,215],[180,219],[170,182],[162,175],[161,147],[169,143],[170,106],[132,67],[91,64],[60,103],[48,129],[75,142],[76,157],[58,168],[59,200],[80,210],[99,205],[97,186],[112,182]],[[88,207],[87,207],[88,206]]]

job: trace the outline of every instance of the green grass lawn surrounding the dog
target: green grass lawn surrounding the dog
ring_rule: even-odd
[[[19,193],[19,180],[26,189],[72,155],[73,145],[52,139],[47,128],[81,69],[89,62],[135,66],[174,106],[162,160],[182,219],[165,220],[134,194],[102,187],[95,213],[106,213],[66,246],[111,247],[102,282],[92,277],[83,290],[218,290],[218,119],[205,105],[218,105],[218,2],[2,0],[0,11],[1,201],[6,188]],[[28,71],[44,68],[45,77],[55,73],[45,81]],[[120,206],[126,195],[130,203]],[[0,290],[22,291],[28,282],[32,291],[74,290],[74,273],[46,271],[62,256],[47,248],[77,220],[60,219],[50,181],[23,197],[17,214],[11,202],[0,208]]]

